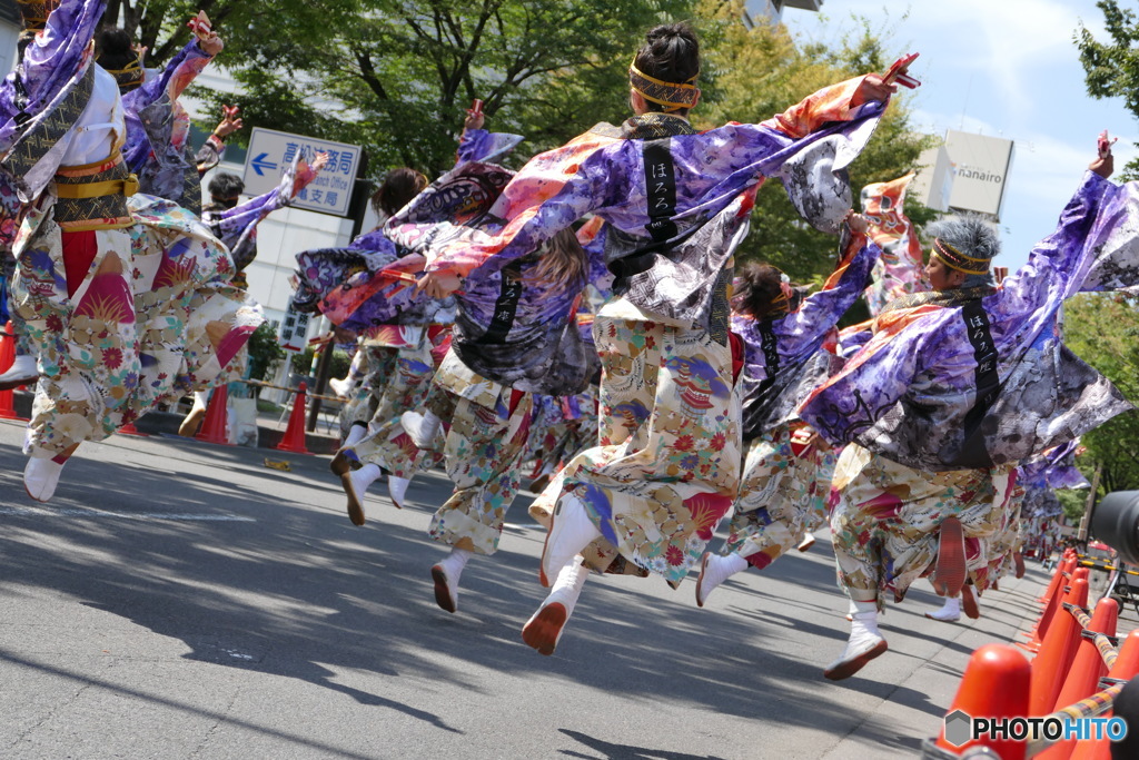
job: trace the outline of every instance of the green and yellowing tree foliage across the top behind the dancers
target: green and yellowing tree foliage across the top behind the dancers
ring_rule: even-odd
[[[226,40],[219,63],[240,92],[191,93],[237,103],[246,129],[362,145],[371,178],[398,165],[428,175],[448,169],[474,98],[484,100],[490,129],[526,136],[516,163],[599,121],[620,123],[630,113],[629,62],[645,31],[663,22],[688,19],[699,32],[702,103],[693,116],[700,128],[767,120],[821,87],[885,71],[902,52],[887,54],[885,32],[865,19],[836,48],[800,43],[781,25],[748,30],[740,0],[112,1],[108,16],[121,10],[154,46],[151,63],[185,43],[182,23],[200,5]],[[906,97],[895,97],[851,167],[854,193],[915,169],[931,142],[912,130]],[[907,211],[918,223],[932,215],[913,203]],[[829,273],[835,245],[769,182],[740,258],[811,281]]]

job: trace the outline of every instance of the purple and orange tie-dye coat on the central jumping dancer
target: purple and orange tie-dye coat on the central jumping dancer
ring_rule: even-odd
[[[749,194],[764,177],[780,175],[812,224],[837,229],[850,207],[849,188],[844,209],[838,187],[845,187],[842,170],[872,134],[883,107],[865,104],[846,114],[851,121],[800,138],[768,124],[729,124],[699,134],[664,132],[641,139],[630,134],[644,117],[624,129],[601,124],[532,158],[477,227],[435,229],[419,247],[428,256],[428,270],[493,271],[593,213],[609,224],[609,268],[626,264],[620,292],[647,311],[706,325],[713,320],[723,265],[747,231]],[[649,209],[650,195],[655,197],[652,156],[662,153],[674,180],[667,216]],[[387,230],[409,246],[423,238],[404,212],[388,221]]]

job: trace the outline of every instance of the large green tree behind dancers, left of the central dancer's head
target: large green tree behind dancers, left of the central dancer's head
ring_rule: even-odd
[[[367,147],[371,173],[454,160],[464,111],[531,153],[624,116],[644,31],[695,0],[296,0],[235,9],[224,65],[246,123]]]

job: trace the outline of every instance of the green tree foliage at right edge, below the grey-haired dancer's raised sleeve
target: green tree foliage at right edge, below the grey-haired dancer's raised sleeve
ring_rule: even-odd
[[[1139,302],[1123,295],[1085,293],[1064,308],[1065,343],[1101,371],[1131,401],[1139,401]],[[1085,434],[1081,471],[1091,480],[1103,466],[1099,490],[1139,489],[1139,412],[1129,411]]]

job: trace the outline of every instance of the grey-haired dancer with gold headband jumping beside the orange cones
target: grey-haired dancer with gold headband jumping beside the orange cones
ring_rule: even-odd
[[[990,272],[999,243],[985,223],[932,227],[932,289],[887,304],[874,337],[801,409],[827,440],[846,444],[831,532],[857,611],[827,678],[847,678],[886,651],[877,627],[885,593],[901,598],[931,567],[944,595],[967,578],[984,591],[983,574],[970,570],[988,565],[1016,464],[1131,408],[1055,329],[1065,299],[1136,279],[1129,220],[1139,186],[1107,181],[1111,166],[1105,150],[1056,231],[999,286]]]

